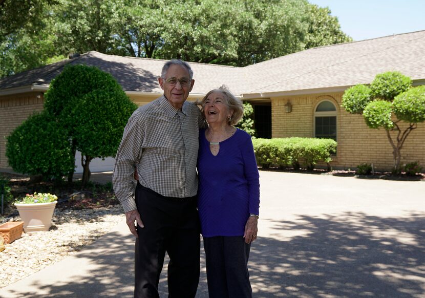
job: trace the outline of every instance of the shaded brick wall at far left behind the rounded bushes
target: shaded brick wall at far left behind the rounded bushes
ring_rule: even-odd
[[[0,98],[0,168],[8,168],[6,152],[6,137],[35,111],[43,108],[42,93],[27,93],[19,96],[4,96]],[[29,157],[30,158],[30,157]]]

